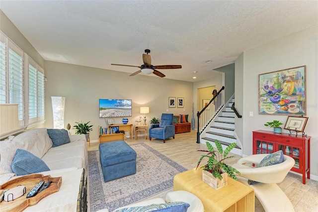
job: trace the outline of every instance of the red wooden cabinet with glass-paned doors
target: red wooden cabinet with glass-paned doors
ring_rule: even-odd
[[[278,150],[283,150],[295,160],[295,165],[291,169],[303,175],[303,184],[307,178],[310,179],[310,136],[302,137],[288,133],[276,134],[271,131],[253,131],[253,154],[270,154]]]

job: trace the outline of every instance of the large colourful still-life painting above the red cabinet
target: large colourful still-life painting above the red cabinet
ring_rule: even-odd
[[[258,113],[306,115],[306,66],[259,74]]]

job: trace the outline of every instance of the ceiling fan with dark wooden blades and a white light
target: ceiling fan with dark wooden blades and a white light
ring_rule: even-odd
[[[140,68],[139,71],[136,71],[135,73],[132,73],[129,76],[135,76],[139,73],[144,73],[144,74],[155,74],[159,77],[165,77],[164,74],[162,74],[161,72],[157,71],[156,69],[180,69],[182,68],[181,65],[160,65],[160,66],[153,66],[151,65],[151,56],[149,55],[150,50],[149,49],[145,49],[145,53],[143,54],[143,61],[144,64],[141,66],[131,66],[131,65],[121,65],[121,64],[111,64],[114,66],[129,66],[129,67],[137,67]]]

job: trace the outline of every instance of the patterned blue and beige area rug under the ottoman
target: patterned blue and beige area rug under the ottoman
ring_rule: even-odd
[[[88,152],[90,211],[132,204],[173,187],[173,177],[187,169],[145,143],[130,145],[137,153],[137,173],[105,183],[99,151]]]

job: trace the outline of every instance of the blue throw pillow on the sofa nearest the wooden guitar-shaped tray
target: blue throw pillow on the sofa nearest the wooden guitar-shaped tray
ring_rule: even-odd
[[[42,159],[24,149],[16,150],[11,169],[18,176],[50,171]]]

